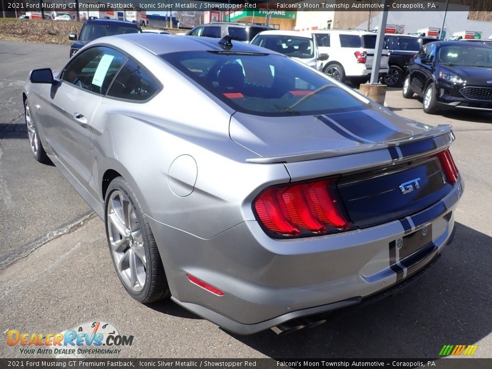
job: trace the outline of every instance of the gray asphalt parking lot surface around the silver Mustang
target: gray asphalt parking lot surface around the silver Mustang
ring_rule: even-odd
[[[1,357],[30,356],[7,345],[9,329],[59,333],[103,320],[134,336],[121,357],[426,358],[444,344],[477,344],[475,357],[492,358],[492,114],[430,116],[416,97],[388,91],[386,104],[397,114],[453,125],[452,152],[465,181],[454,243],[396,296],[291,335],[237,336],[171,301],[131,299],[114,272],[103,222],[56,168],[31,157],[23,81],[30,69],[60,68],[67,56],[67,46],[0,42]]]

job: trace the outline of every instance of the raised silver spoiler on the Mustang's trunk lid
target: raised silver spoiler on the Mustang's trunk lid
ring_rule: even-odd
[[[429,129],[424,133],[391,141],[382,141],[377,143],[375,142],[374,144],[362,144],[356,147],[341,150],[303,151],[285,156],[257,157],[246,159],[246,161],[251,163],[271,164],[324,159],[335,156],[387,149],[390,147],[399,147],[425,139],[434,139],[436,141],[436,147],[440,148],[446,145],[449,146],[449,144],[451,144],[451,142],[455,140],[455,135],[451,128],[452,127],[450,125],[439,125],[437,127]]]

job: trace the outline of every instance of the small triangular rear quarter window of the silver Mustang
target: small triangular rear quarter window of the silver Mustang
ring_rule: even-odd
[[[160,89],[158,81],[134,60],[128,59],[116,76],[108,96],[127,100],[147,100]]]

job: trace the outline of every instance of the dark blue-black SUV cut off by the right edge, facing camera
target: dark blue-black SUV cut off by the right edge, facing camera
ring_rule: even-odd
[[[445,109],[492,111],[492,48],[440,41],[424,45],[408,66],[403,97],[423,98],[424,112]]]

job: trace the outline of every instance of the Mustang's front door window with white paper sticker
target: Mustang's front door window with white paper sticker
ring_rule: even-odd
[[[111,48],[93,47],[77,54],[64,69],[61,79],[104,95],[126,59],[125,55]]]

